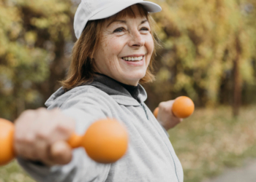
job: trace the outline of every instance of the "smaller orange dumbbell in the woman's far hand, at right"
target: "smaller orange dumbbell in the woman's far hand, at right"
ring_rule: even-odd
[[[178,118],[186,118],[190,116],[195,110],[195,105],[193,101],[186,97],[181,96],[176,98],[173,103],[172,112],[174,116]],[[159,108],[155,108],[154,110],[154,116],[157,118]]]

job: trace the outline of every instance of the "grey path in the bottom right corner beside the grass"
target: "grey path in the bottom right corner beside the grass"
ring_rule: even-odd
[[[225,170],[222,175],[203,182],[256,182],[256,159],[248,159],[244,166]]]

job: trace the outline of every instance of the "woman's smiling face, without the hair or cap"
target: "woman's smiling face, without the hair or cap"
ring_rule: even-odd
[[[137,8],[135,15],[105,23],[94,53],[94,68],[118,82],[137,86],[146,74],[154,41],[146,17],[141,17]]]

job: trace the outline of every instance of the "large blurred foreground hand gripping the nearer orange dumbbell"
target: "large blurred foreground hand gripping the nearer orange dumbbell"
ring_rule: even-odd
[[[65,165],[72,159],[72,149],[64,141],[72,132],[75,120],[58,108],[24,111],[15,121],[15,153],[45,165]]]

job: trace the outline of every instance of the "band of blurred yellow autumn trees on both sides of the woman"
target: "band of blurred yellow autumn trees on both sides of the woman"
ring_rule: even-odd
[[[189,95],[197,106],[251,100],[256,78],[255,0],[152,0],[162,48],[148,105]],[[78,0],[0,0],[0,117],[43,106],[69,66]],[[244,89],[244,90],[242,90]],[[248,91],[252,90],[252,91]],[[256,91],[256,90],[255,90]]]

